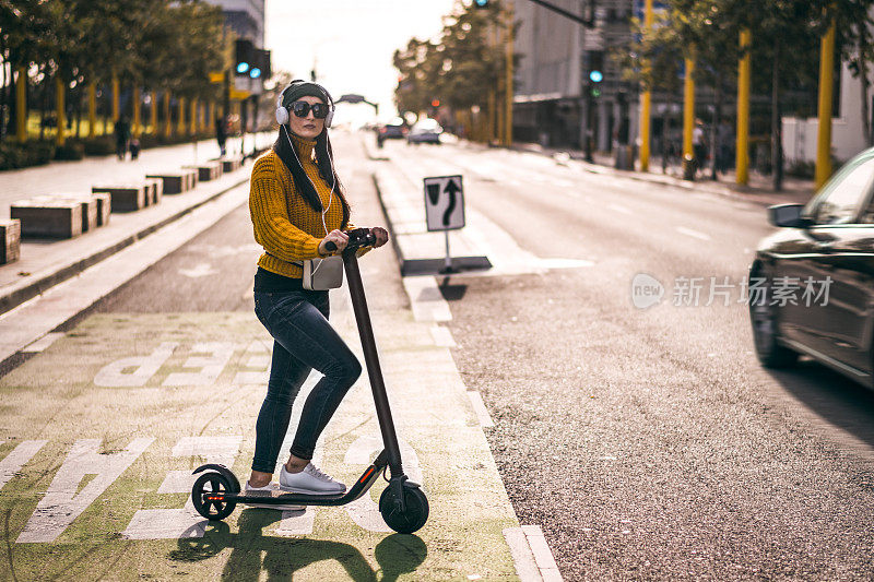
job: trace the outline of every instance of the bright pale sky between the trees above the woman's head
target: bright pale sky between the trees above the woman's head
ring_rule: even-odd
[[[379,104],[379,117],[395,115],[398,71],[392,55],[412,37],[432,38],[456,0],[267,0],[264,48],[273,72],[288,71],[317,81],[334,98],[346,93]],[[335,122],[373,118],[367,105],[344,105]]]

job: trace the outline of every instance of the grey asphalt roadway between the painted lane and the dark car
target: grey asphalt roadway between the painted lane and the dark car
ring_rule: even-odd
[[[469,206],[535,256],[594,263],[444,281],[507,490],[566,579],[874,575],[874,397],[753,354],[740,284],[770,231],[763,207],[535,154],[385,153],[411,183],[463,174]],[[639,273],[660,305],[633,304]],[[704,277],[697,306],[678,277]],[[729,277],[728,306],[707,306],[710,277]]]

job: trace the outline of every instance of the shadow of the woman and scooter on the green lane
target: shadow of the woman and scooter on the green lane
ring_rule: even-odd
[[[245,510],[240,514],[239,532],[231,533],[225,522],[210,522],[203,537],[179,538],[178,549],[170,551],[176,561],[194,562],[217,556],[233,548],[222,572],[222,580],[292,580],[297,570],[322,560],[340,563],[351,580],[377,580],[377,572],[358,548],[340,542],[308,537],[264,536],[264,527],[280,521],[282,513],[272,510]],[[425,543],[415,535],[392,534],[380,542],[374,555],[380,566],[381,581],[397,580],[414,572],[428,555]]]

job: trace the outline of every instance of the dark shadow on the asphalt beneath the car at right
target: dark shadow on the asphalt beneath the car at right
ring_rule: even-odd
[[[874,447],[873,391],[811,360],[769,373],[820,418]]]

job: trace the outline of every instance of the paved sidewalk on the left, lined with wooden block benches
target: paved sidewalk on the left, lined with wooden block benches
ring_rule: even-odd
[[[256,145],[267,147],[271,138],[272,134],[268,133],[257,134]],[[252,135],[246,140],[247,152],[251,152],[252,140]],[[146,174],[173,171],[182,165],[218,157],[218,146],[213,141],[202,141],[197,149],[193,144],[184,144],[146,150],[135,162],[120,162],[115,156],[106,156],[3,173],[0,174],[0,218],[8,218],[11,204],[23,198],[90,193],[92,186],[141,180]],[[239,140],[233,140],[228,154],[239,154]],[[249,169],[244,166],[217,180],[199,183],[184,194],[165,195],[157,205],[138,212],[114,213],[106,226],[93,233],[61,240],[23,239],[21,258],[0,265],[0,313],[177,221],[248,178]]]

